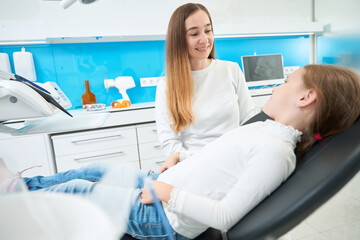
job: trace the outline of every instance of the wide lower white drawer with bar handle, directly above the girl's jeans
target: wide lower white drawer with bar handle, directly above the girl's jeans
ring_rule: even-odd
[[[79,168],[90,163],[102,161],[114,164],[128,164],[139,168],[137,146],[124,146],[79,154],[56,157],[57,171]]]

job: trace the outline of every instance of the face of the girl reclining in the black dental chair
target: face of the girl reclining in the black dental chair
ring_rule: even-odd
[[[276,119],[279,112],[295,109],[306,87],[303,83],[305,69],[300,68],[287,77],[285,83],[273,89],[272,96],[264,105],[263,111]]]

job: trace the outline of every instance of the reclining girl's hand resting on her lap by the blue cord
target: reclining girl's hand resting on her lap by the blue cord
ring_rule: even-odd
[[[159,181],[151,181],[154,188],[156,197],[162,202],[168,202],[170,200],[170,194],[173,190],[173,186]],[[144,188],[141,190],[141,203],[150,204],[153,203],[154,199],[152,198],[151,192],[147,185],[144,185]]]

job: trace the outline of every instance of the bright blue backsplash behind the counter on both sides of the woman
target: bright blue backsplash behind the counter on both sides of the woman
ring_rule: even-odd
[[[37,82],[56,82],[70,99],[72,108],[82,106],[84,81],[98,103],[121,99],[116,88],[106,91],[104,78],[131,76],[136,87],[127,90],[132,103],[155,101],[156,87],[140,87],[140,78],[165,75],[165,41],[134,41],[109,43],[43,44],[0,46],[7,53],[14,72],[13,52],[25,47],[34,57]],[[281,53],[284,66],[304,66],[309,63],[308,36],[219,38],[215,40],[215,55],[221,60],[237,62],[242,55]]]

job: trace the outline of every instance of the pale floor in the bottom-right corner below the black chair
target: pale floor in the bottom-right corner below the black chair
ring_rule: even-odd
[[[360,172],[333,198],[279,240],[359,240]]]

